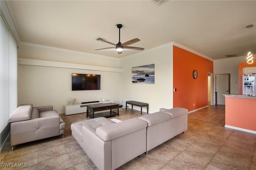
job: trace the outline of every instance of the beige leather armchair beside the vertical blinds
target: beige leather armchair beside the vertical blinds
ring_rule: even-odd
[[[11,146],[64,134],[65,122],[52,106],[20,105],[8,119]]]

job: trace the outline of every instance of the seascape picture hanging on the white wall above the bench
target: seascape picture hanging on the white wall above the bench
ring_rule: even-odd
[[[132,67],[132,83],[155,84],[155,64]]]

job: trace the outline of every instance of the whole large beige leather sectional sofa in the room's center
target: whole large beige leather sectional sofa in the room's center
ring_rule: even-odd
[[[188,129],[180,107],[115,123],[105,117],[71,124],[72,135],[99,170],[114,170]]]

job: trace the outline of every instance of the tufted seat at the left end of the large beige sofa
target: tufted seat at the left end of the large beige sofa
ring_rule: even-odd
[[[97,127],[103,126],[103,125],[109,125],[115,123],[114,121],[111,121],[107,119],[106,117],[97,117],[94,119],[88,119],[84,121],[79,121],[76,123],[71,124],[71,130],[73,133],[76,134],[76,136],[79,138],[80,141],[82,141],[82,126],[84,125],[90,125],[93,129],[96,130]]]

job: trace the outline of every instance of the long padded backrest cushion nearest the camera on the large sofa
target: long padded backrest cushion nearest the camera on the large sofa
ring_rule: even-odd
[[[139,131],[147,127],[147,122],[138,118],[128,119],[111,125],[105,125],[96,129],[96,135],[103,141],[111,141],[113,139],[128,135],[135,131]]]

